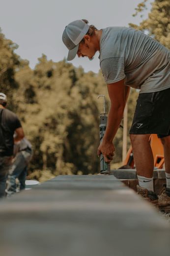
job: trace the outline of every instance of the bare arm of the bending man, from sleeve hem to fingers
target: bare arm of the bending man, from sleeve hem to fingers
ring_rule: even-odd
[[[108,84],[108,93],[111,100],[111,108],[108,115],[108,123],[103,141],[98,148],[98,155],[101,153],[106,162],[113,159],[113,138],[121,123],[124,108],[129,95],[130,87],[124,85],[124,80]]]

